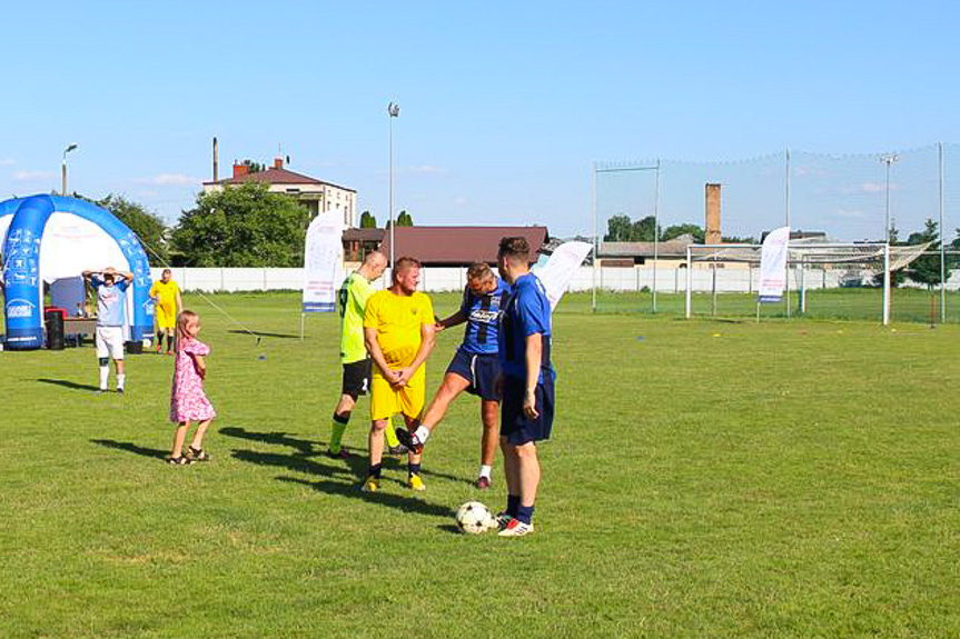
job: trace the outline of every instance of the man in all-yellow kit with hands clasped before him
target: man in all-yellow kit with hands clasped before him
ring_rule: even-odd
[[[380,487],[384,429],[394,413],[404,416],[415,429],[424,409],[427,356],[434,348],[434,309],[430,299],[417,291],[420,264],[400,258],[393,271],[393,286],[374,293],[364,312],[364,338],[374,371],[370,379],[370,467],[363,490]],[[425,490],[420,479],[420,456],[410,451],[407,486]]]

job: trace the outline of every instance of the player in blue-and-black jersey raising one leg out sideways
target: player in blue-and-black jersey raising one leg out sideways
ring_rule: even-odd
[[[447,367],[443,383],[416,432],[400,432],[402,429],[397,429],[397,439],[410,450],[420,451],[430,431],[444,418],[457,396],[467,391],[479,397],[483,439],[481,468],[475,486],[481,490],[489,488],[491,470],[496,455],[499,408],[495,388],[499,375],[497,326],[507,294],[509,286],[497,279],[487,264],[475,263],[467,270],[467,286],[459,310],[437,321],[435,326],[436,331],[442,331],[466,322],[463,343]]]

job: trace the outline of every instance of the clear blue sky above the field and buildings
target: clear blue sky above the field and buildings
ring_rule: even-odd
[[[588,232],[597,160],[960,141],[958,18],[949,2],[18,2],[0,196],[59,188],[77,142],[71,189],[172,221],[217,136],[221,174],[281,144],[383,222],[395,100],[397,209],[417,223]],[[851,179],[875,192],[882,172]],[[859,239],[841,218],[809,221]]]

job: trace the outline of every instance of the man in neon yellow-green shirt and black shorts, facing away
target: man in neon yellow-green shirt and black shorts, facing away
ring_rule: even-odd
[[[350,422],[350,413],[357,398],[367,393],[370,385],[370,359],[364,345],[364,310],[367,300],[376,292],[373,287],[387,268],[387,258],[379,251],[367,253],[360,268],[347,276],[337,291],[337,310],[340,313],[340,363],[344,366],[340,399],[334,409],[330,432],[330,447],[327,456],[335,459],[349,459],[350,453],[343,447],[344,431]],[[397,441],[392,425],[387,425],[387,445],[392,455],[406,452]]]

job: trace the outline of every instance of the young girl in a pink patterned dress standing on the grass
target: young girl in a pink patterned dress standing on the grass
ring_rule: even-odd
[[[210,348],[197,339],[199,332],[200,318],[197,313],[182,311],[177,316],[177,359],[170,390],[170,421],[177,425],[177,431],[174,435],[174,449],[167,460],[174,466],[210,459],[204,450],[204,435],[217,413],[204,392],[204,378],[207,375],[205,358]],[[185,456],[184,441],[191,421],[197,422],[197,432]]]

